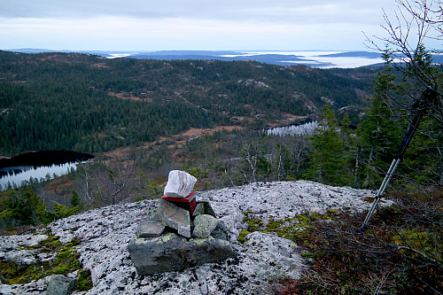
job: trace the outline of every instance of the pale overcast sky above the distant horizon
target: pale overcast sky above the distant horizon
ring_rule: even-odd
[[[0,49],[367,50],[394,0],[0,0]]]

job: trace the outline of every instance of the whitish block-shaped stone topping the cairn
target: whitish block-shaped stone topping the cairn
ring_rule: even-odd
[[[170,198],[186,198],[194,189],[197,178],[180,170],[172,170],[167,175],[164,195]]]

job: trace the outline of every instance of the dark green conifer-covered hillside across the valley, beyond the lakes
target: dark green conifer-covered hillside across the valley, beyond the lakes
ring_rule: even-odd
[[[325,103],[361,106],[376,71],[0,51],[0,155],[109,151],[188,128],[265,127]]]

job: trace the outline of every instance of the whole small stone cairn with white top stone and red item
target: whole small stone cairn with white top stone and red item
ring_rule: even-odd
[[[236,255],[209,202],[197,201],[195,182],[184,171],[169,173],[164,196],[148,210],[148,220],[138,224],[128,245],[138,275],[179,271]]]

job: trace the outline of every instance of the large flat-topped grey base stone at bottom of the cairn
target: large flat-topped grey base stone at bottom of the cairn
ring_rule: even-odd
[[[154,238],[133,238],[128,252],[138,275],[180,271],[235,257],[228,241],[214,237],[191,238],[168,233]]]

